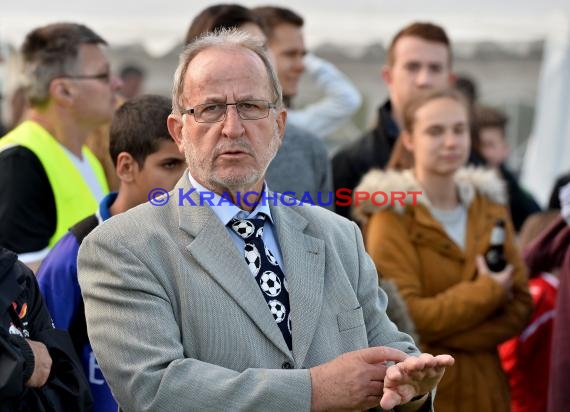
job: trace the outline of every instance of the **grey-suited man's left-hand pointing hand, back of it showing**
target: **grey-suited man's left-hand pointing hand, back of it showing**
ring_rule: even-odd
[[[409,355],[386,346],[345,353],[310,369],[311,410],[354,410],[378,406],[386,362],[401,362]]]

